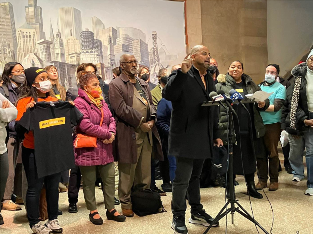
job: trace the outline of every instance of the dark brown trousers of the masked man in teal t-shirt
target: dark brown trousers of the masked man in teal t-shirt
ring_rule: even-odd
[[[264,142],[267,154],[257,160],[259,170],[259,181],[267,182],[268,174],[270,183],[278,182],[278,168],[280,160],[278,157],[278,141],[281,134],[280,123],[266,124]]]

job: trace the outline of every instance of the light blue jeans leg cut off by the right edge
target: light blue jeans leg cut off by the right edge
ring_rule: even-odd
[[[310,119],[313,119],[313,112],[310,113]],[[306,167],[308,168],[308,188],[313,188],[313,128],[304,132],[304,141],[306,148]]]

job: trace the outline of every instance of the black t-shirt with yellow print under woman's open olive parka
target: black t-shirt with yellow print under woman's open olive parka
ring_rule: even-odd
[[[243,97],[248,94],[248,91],[246,89],[246,86],[243,84],[243,81],[234,85],[233,89],[236,90],[238,93],[240,93]],[[251,115],[252,121],[253,121],[253,107],[252,103],[245,104],[247,109],[249,110],[249,113]],[[248,112],[244,109],[244,107],[239,103],[238,105],[234,104],[233,105],[234,110],[236,111],[238,117],[239,117],[239,125],[240,125],[240,133],[241,134],[248,134],[250,131],[250,120],[249,120],[249,114]],[[235,130],[239,131],[239,126],[238,126],[238,120],[237,118],[234,118],[234,125],[235,125]]]

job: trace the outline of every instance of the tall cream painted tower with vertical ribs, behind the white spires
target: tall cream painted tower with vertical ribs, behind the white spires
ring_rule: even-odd
[[[74,7],[60,7],[59,23],[64,40],[70,37],[70,30],[72,30],[73,36],[80,40],[80,32],[83,31],[80,10]]]

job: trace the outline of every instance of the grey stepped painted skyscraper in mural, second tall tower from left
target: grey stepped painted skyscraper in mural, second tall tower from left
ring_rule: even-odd
[[[26,22],[36,29],[38,39],[46,37],[42,24],[42,9],[37,5],[37,1],[28,1],[28,6],[25,7]]]

